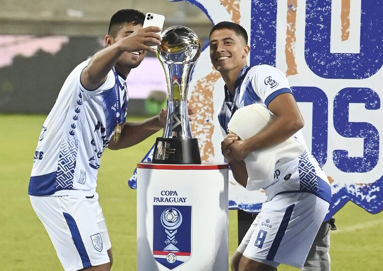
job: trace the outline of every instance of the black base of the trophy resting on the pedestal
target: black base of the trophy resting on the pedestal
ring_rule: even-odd
[[[152,163],[155,164],[201,164],[196,138],[157,137]]]

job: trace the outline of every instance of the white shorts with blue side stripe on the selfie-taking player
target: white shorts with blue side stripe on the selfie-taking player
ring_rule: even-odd
[[[85,196],[30,196],[65,271],[109,263],[111,248],[98,194]]]

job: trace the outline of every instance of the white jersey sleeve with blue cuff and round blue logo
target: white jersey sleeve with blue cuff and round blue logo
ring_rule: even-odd
[[[252,87],[268,108],[270,102],[278,95],[292,93],[286,76],[277,68],[260,65],[252,72]]]

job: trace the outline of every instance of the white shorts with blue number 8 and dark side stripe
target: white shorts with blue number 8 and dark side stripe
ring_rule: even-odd
[[[263,203],[238,252],[277,267],[301,269],[327,213],[329,203],[310,193],[285,193]]]

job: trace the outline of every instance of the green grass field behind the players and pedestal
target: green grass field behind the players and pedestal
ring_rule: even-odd
[[[29,202],[28,181],[45,116],[0,115],[0,271],[60,271],[61,264]],[[133,120],[133,119],[131,119]],[[137,119],[134,119],[137,120]],[[97,191],[112,242],[113,271],[136,270],[136,191],[127,186],[154,135],[127,150],[105,151]],[[229,254],[237,243],[236,211],[229,217]],[[383,214],[348,203],[331,233],[333,271],[383,270]],[[297,270],[281,266],[280,271]]]

